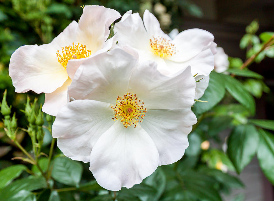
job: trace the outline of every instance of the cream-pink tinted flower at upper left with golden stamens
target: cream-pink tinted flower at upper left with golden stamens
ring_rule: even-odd
[[[42,110],[55,116],[69,100],[67,87],[78,66],[86,57],[111,48],[108,27],[119,17],[113,9],[87,5],[79,23],[70,23],[51,43],[19,47],[9,64],[15,91],[46,93]]]

